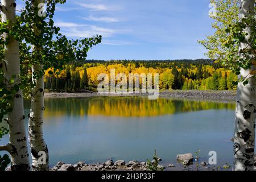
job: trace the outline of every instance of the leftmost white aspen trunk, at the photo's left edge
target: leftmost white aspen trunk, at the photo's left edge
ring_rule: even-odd
[[[2,0],[2,22],[15,23],[15,0]],[[3,72],[6,78],[7,87],[20,83],[20,59],[19,59],[19,42],[13,36],[3,34],[4,38],[9,38],[8,44],[5,46],[5,64],[3,64]],[[14,78],[14,84],[9,80]],[[23,93],[19,90],[10,101],[13,111],[7,114],[7,122],[9,124],[10,143],[1,146],[1,150],[7,150],[11,156],[11,170],[27,171],[30,168],[28,159],[27,137],[24,123]]]

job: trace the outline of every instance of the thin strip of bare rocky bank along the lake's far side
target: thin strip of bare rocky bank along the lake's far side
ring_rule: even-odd
[[[100,97],[100,96],[148,96],[148,94],[100,94],[88,92],[56,93],[47,92],[46,98],[79,98],[79,97]],[[236,90],[161,90],[159,97],[182,98],[210,101],[236,101]]]

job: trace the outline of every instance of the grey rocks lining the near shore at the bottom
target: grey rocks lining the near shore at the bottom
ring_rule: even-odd
[[[232,167],[228,164],[224,166],[210,165],[207,162],[199,161],[198,158],[193,158],[191,153],[179,154],[176,157],[176,164],[167,164],[162,162],[161,158],[158,158],[157,169],[159,171],[230,171]],[[151,164],[155,161],[152,160]],[[256,163],[255,163],[256,164]],[[131,160],[125,162],[125,160],[107,160],[105,163],[86,164],[85,162],[79,162],[76,164],[65,164],[58,162],[50,171],[150,171],[147,162],[138,162],[137,160]]]

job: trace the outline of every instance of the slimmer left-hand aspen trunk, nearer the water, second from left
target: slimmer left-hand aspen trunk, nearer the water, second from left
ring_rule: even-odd
[[[43,0],[34,1],[34,6],[43,3]],[[35,16],[38,13],[35,12]],[[34,31],[38,31],[35,30]],[[40,49],[35,47],[35,49]],[[43,69],[42,65],[34,65],[32,75],[38,75]],[[44,112],[44,76],[32,78],[35,87],[31,90],[31,108],[28,122],[28,139],[32,154],[32,169],[47,171],[49,168],[49,154],[47,144],[43,138],[43,112]]]

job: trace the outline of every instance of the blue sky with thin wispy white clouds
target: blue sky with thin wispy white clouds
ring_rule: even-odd
[[[200,59],[209,10],[209,0],[67,0],[54,19],[69,38],[103,36],[88,59]]]

